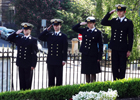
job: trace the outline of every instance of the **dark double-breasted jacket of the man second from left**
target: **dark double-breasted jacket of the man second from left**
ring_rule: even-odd
[[[65,34],[60,32],[56,36],[54,32],[44,30],[38,38],[47,42],[48,56],[46,62],[48,64],[62,65],[62,61],[67,61],[68,42]]]

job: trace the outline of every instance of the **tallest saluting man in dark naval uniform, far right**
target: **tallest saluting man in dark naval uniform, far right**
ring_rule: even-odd
[[[111,40],[109,47],[112,49],[112,72],[113,78],[123,79],[126,72],[126,61],[130,56],[133,45],[133,23],[125,17],[126,6],[117,4],[116,10],[106,14],[101,24],[111,26]],[[110,16],[117,11],[117,18],[109,20]]]

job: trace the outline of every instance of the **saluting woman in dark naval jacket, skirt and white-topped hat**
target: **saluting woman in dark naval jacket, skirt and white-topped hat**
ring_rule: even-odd
[[[82,34],[82,53],[81,73],[86,74],[86,82],[96,81],[96,74],[101,72],[100,60],[102,60],[103,40],[102,33],[95,27],[95,18],[88,17],[85,22],[76,24],[72,29]],[[86,25],[86,28],[80,26]]]

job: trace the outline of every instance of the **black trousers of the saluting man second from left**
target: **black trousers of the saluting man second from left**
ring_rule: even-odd
[[[56,77],[56,86],[62,85],[63,66],[47,64],[47,68],[49,76],[49,86],[55,86],[55,77]]]

